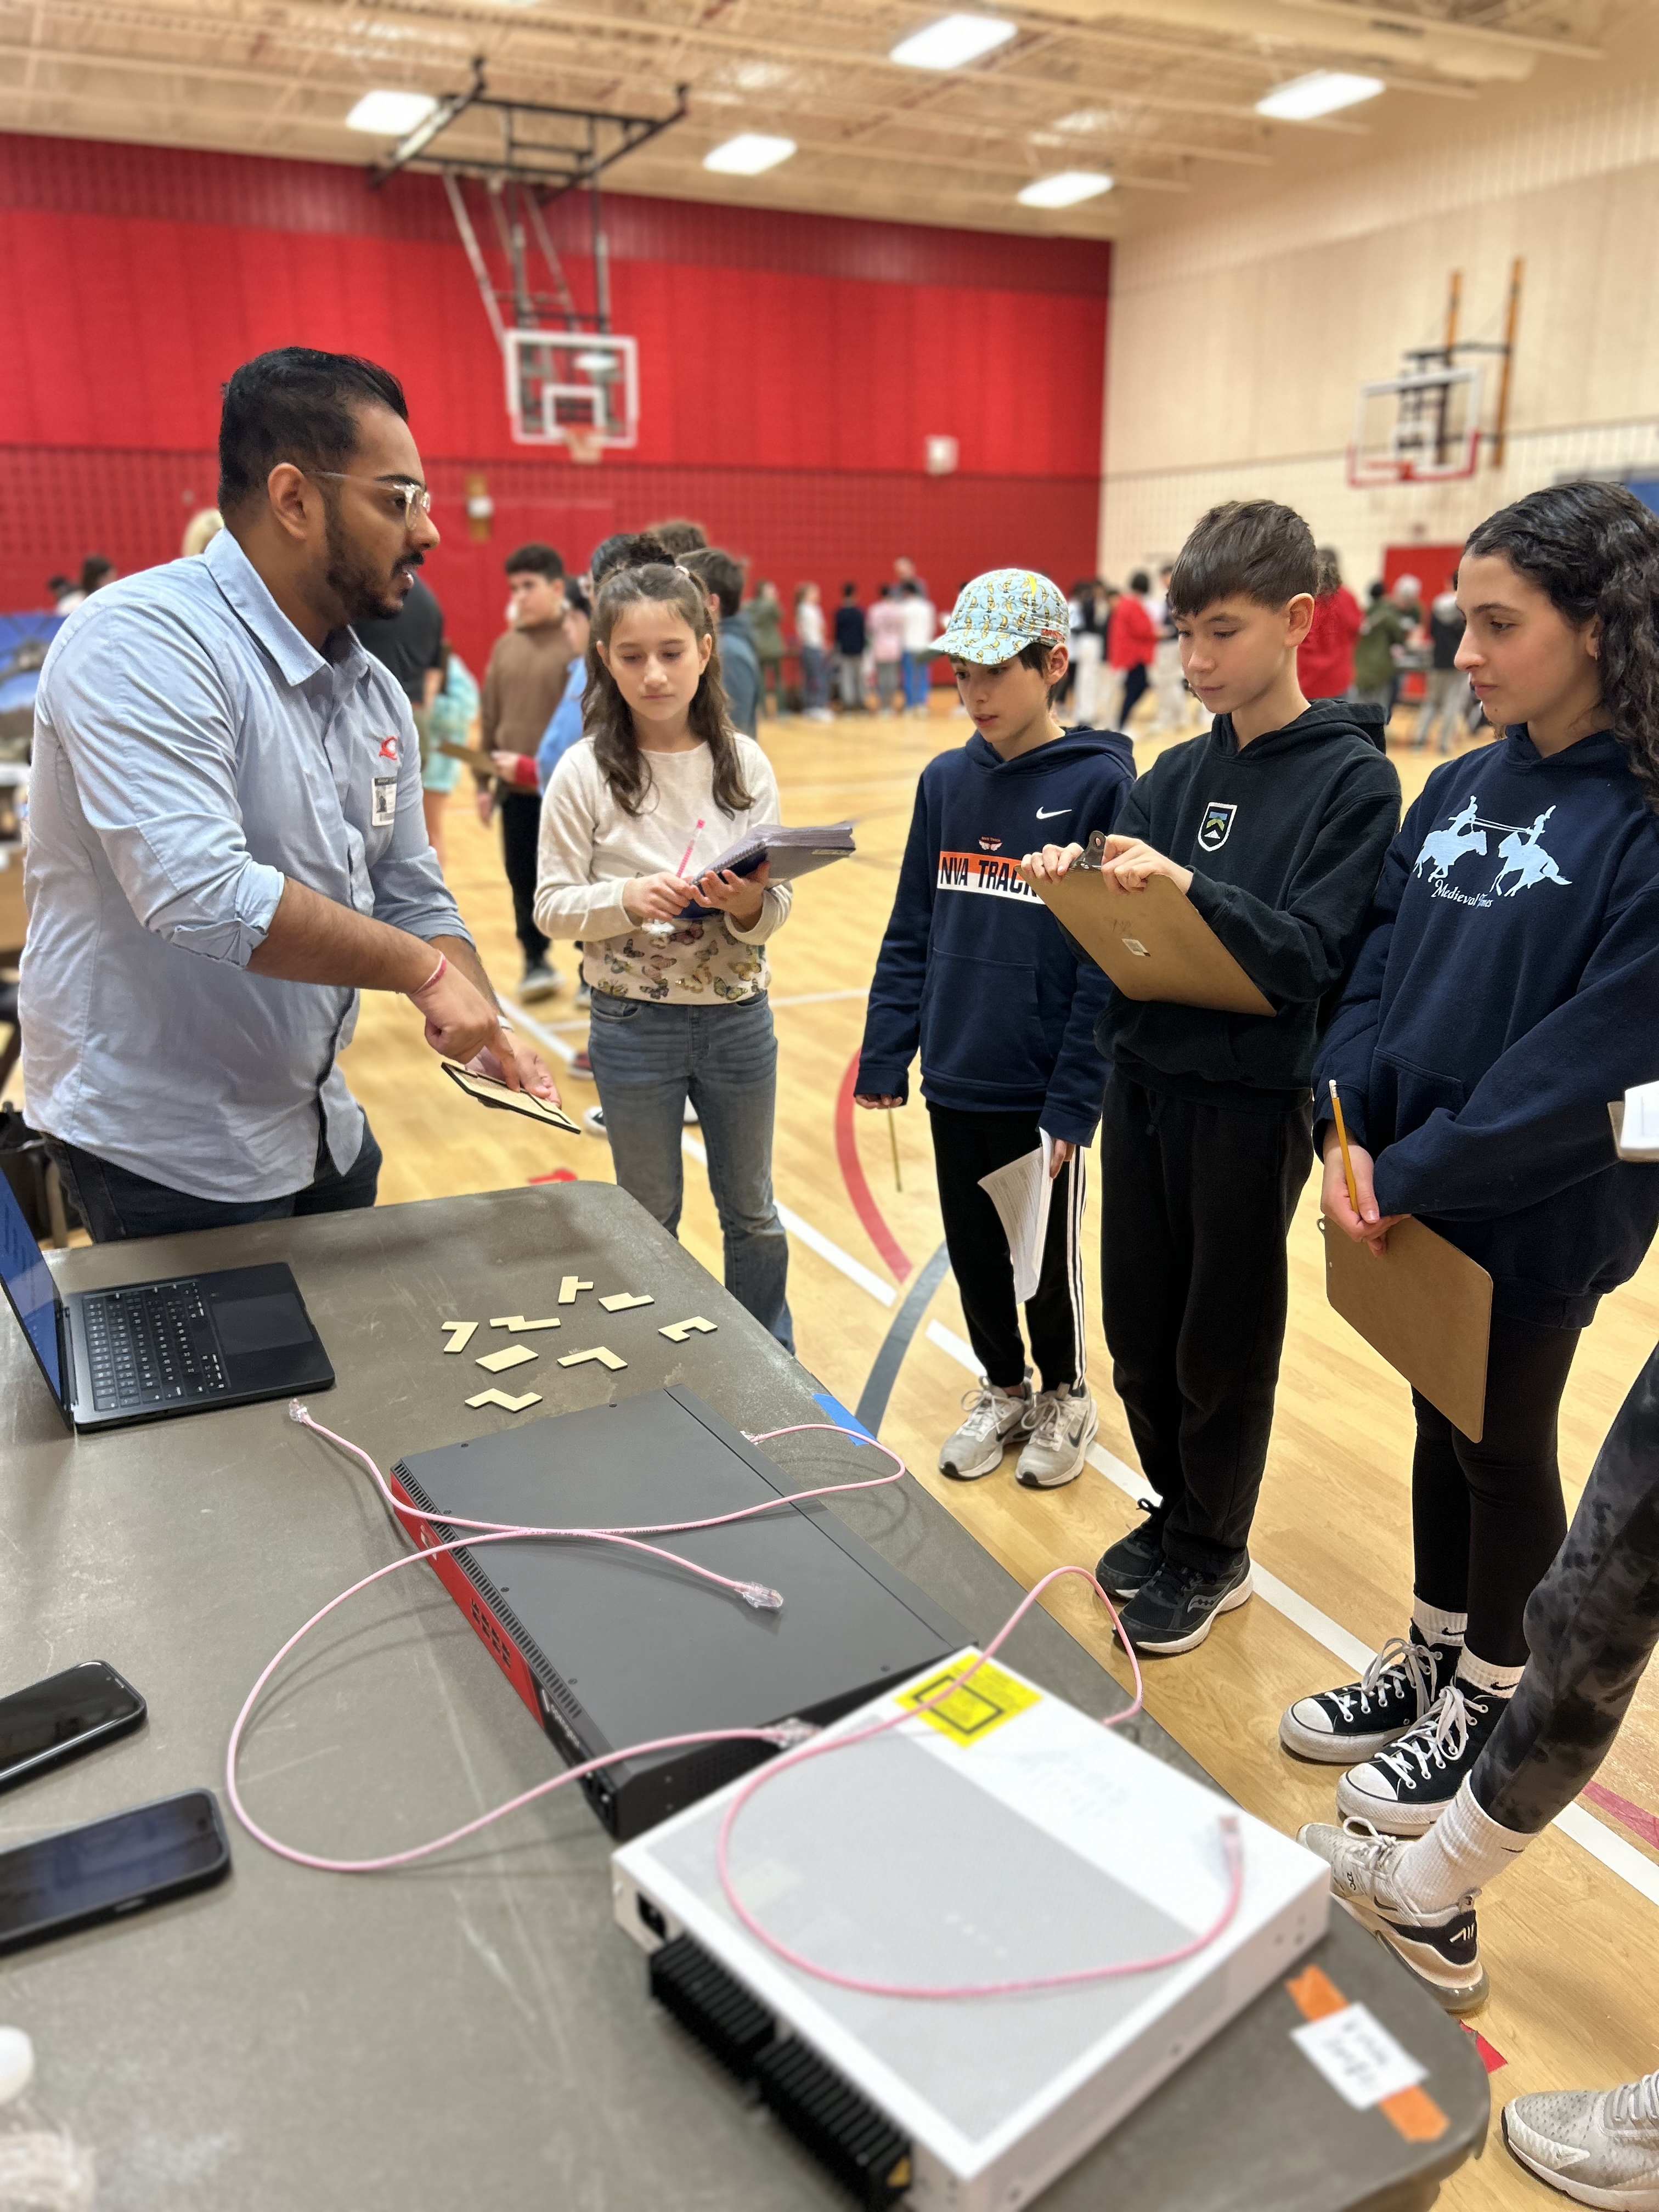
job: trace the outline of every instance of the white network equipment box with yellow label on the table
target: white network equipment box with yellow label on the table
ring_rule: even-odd
[[[975,1655],[865,1705],[845,1736]],[[1029,2203],[1325,1933],[1321,1860],[995,1661],[933,1714],[765,1783],[732,1878],[772,1936],[865,1980],[947,1986],[1155,1958],[1157,1973],[1006,1997],[874,1997],[799,1973],[730,1911],[734,1783],[611,1860],[653,1993],[869,2208]]]

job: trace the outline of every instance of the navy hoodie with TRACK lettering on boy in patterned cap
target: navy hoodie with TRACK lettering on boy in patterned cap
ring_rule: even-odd
[[[907,1097],[920,1044],[922,1097],[1035,1113],[1051,1137],[1088,1144],[1108,984],[1015,867],[1040,845],[1110,830],[1133,781],[1135,750],[1115,730],[1068,730],[1013,761],[975,730],[927,763],[869,987],[865,1097]]]

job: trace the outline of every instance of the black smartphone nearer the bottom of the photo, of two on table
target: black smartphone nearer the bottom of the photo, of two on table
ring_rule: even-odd
[[[135,1805],[0,1851],[0,1951],[206,1889],[230,1874],[212,1790]]]

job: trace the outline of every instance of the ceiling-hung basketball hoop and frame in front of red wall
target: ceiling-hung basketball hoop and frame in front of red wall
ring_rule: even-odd
[[[500,117],[502,150],[493,159],[451,157],[431,146],[462,115]],[[369,170],[378,188],[403,168],[438,170],[449,212],[502,354],[507,416],[518,445],[562,445],[571,460],[595,462],[639,436],[639,345],[611,327],[611,248],[599,177],[624,155],[668,131],[688,113],[677,86],[670,115],[617,115],[611,108],[566,108],[540,100],[498,100],[487,91],[484,62],[473,62],[465,93],[447,93]],[[549,131],[551,124],[551,131]],[[478,243],[467,184],[480,184],[495,241],[509,270],[502,288]],[[546,228],[546,208],[566,192],[588,195],[593,307],[577,305]],[[533,254],[546,285],[533,272]]]

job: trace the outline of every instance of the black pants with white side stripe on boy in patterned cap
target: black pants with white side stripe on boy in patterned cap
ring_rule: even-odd
[[[938,1210],[951,1274],[962,1294],[969,1343],[998,1389],[1020,1389],[1026,1352],[1013,1296],[1013,1261],[995,1206],[980,1177],[1042,1144],[1035,1113],[962,1113],[927,1108],[933,1128]],[[1048,1199],[1048,1241],[1042,1248],[1037,1296],[1026,1301],[1031,1365],[1042,1389],[1068,1389],[1084,1378],[1084,1159],[1075,1155],[1055,1177]]]

